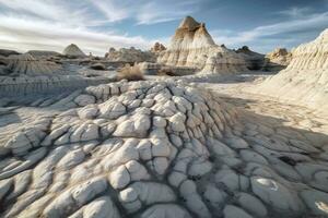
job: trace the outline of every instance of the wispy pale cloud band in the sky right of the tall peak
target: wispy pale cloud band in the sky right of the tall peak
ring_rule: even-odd
[[[328,12],[304,14],[304,10],[290,12],[291,19],[288,21],[274,23],[271,25],[258,26],[253,29],[236,33],[231,29],[214,29],[211,32],[215,41],[231,47],[241,47],[243,45],[257,45],[261,51],[268,51],[271,47],[300,44],[304,39],[308,40],[311,36],[318,31],[327,28]],[[281,12],[281,13],[284,13]],[[302,16],[298,16],[303,14]],[[295,37],[296,36],[296,37]]]

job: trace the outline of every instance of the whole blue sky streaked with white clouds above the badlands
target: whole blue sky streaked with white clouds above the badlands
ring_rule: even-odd
[[[328,0],[0,0],[0,48],[148,50],[155,41],[167,46],[187,15],[206,23],[218,45],[267,53],[328,28]]]

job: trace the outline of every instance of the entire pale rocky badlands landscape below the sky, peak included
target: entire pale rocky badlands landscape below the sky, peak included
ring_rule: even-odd
[[[328,217],[327,109],[328,29],[266,56],[190,16],[149,51],[0,50],[0,217]]]

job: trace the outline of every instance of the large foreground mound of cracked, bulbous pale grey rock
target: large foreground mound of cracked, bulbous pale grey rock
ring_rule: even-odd
[[[327,144],[242,114],[183,81],[122,81],[52,99],[33,122],[0,126],[14,129],[0,131],[0,214],[327,216]]]

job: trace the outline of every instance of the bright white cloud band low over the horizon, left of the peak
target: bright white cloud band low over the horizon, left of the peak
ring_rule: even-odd
[[[74,43],[85,52],[103,56],[109,47],[139,47],[149,49],[154,43],[141,36],[130,37],[112,33],[99,33],[84,27],[70,27],[33,19],[0,15],[0,47],[26,51],[49,49],[61,52]]]

